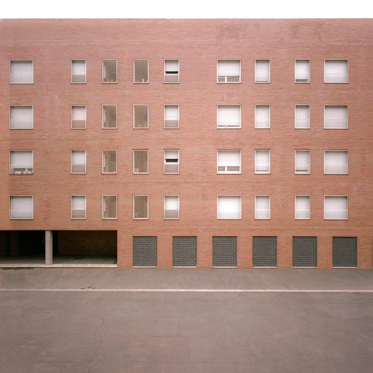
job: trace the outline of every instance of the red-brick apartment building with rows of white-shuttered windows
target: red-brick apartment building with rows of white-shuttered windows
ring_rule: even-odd
[[[0,27],[1,266],[372,269],[372,19]]]

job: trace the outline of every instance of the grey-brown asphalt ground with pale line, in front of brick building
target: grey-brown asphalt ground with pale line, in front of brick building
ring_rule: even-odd
[[[1,269],[1,373],[373,372],[372,270]]]

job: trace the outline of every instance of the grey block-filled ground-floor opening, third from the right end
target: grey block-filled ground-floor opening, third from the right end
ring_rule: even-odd
[[[253,237],[253,267],[277,267],[277,237]]]

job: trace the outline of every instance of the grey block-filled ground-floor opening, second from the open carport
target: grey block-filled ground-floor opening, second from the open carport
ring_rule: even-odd
[[[197,266],[197,237],[172,238],[173,267]]]

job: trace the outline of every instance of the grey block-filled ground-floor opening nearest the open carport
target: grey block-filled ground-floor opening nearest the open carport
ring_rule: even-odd
[[[133,267],[157,267],[157,237],[134,236]]]

